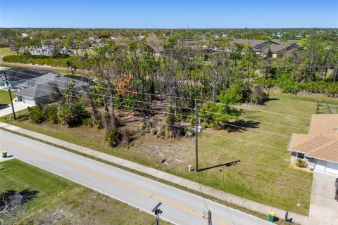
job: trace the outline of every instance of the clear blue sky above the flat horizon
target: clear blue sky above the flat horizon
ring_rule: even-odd
[[[0,27],[338,27],[337,0],[0,0]]]

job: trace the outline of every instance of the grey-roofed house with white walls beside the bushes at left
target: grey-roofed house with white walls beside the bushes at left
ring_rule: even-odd
[[[67,82],[68,84],[74,82],[74,88],[80,95],[83,94],[84,90],[89,87],[89,84],[84,79],[73,78],[50,72],[19,84],[18,89],[20,91],[15,95],[18,97],[18,101],[23,101],[23,103],[30,105],[52,103],[57,100],[56,96],[59,96],[67,88]]]

